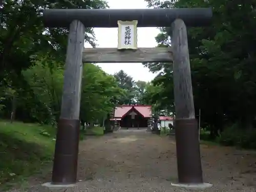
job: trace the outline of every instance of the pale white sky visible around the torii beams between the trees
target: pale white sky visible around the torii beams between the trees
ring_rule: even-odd
[[[144,9],[146,2],[144,0],[108,0],[108,5],[111,9]],[[95,28],[94,29],[97,47],[99,48],[117,48],[117,28]],[[159,33],[157,28],[138,28],[138,47],[150,48],[156,47],[157,42],[155,37]],[[108,38],[105,36],[108,35]],[[86,44],[86,47],[91,47]],[[144,68],[142,63],[98,63],[106,73],[114,74],[123,70],[128,75],[132,76],[134,80],[151,81],[156,74]]]

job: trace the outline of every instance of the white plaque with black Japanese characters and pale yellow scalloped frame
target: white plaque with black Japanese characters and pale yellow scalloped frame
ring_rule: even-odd
[[[118,20],[118,48],[138,49],[137,46],[137,20],[122,22]]]

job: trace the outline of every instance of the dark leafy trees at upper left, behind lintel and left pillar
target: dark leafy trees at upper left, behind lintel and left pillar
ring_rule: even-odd
[[[16,117],[22,120],[45,121],[48,119],[48,117],[45,118],[46,114],[59,113],[59,102],[51,99],[60,99],[54,96],[55,93],[52,91],[62,89],[61,83],[55,82],[54,75],[62,74],[68,29],[45,28],[42,23],[42,10],[48,8],[104,9],[106,7],[108,5],[103,0],[4,0],[0,3],[0,90],[11,89],[16,95],[13,97],[15,99],[10,99],[10,94],[7,96],[1,93],[0,106],[3,117],[10,117],[13,111],[12,103],[20,105],[17,106]],[[86,29],[85,39],[95,46],[93,29]],[[53,79],[51,80],[47,75]],[[35,79],[36,82],[31,82],[31,79]],[[58,76],[57,79],[61,78]],[[52,84],[57,86],[56,89],[51,87]],[[39,93],[45,97],[41,97]],[[39,97],[42,100],[38,99]],[[61,96],[58,95],[58,97]],[[16,99],[17,101],[13,102]],[[50,112],[48,107],[53,111]],[[41,110],[45,112],[39,113]]]

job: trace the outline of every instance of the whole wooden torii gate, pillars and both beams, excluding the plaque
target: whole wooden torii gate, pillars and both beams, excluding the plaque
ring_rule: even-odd
[[[211,17],[210,8],[44,10],[46,27],[70,29],[52,185],[74,184],[77,179],[82,62],[173,62],[178,179],[203,183],[186,26],[209,25]],[[137,20],[138,27],[172,27],[172,47],[84,49],[86,27],[118,27],[118,20]]]

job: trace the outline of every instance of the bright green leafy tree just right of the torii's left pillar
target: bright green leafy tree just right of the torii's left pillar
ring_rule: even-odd
[[[80,117],[86,122],[102,121],[124,91],[113,76],[91,63],[84,65],[83,74]]]

